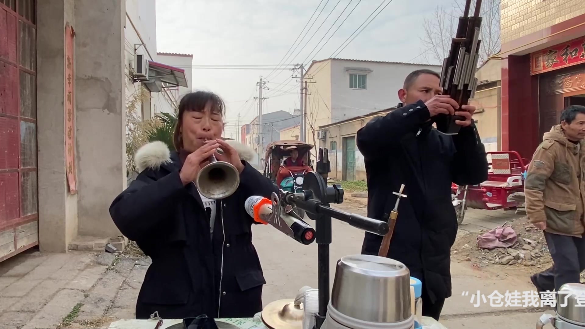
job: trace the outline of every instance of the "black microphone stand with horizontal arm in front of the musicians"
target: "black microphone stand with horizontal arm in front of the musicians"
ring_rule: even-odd
[[[315,328],[321,328],[329,304],[329,245],[331,244],[331,218],[346,222],[353,227],[378,235],[388,233],[388,223],[357,214],[349,214],[329,207],[331,203],[343,203],[343,189],[339,184],[327,186],[316,172],[308,172],[302,184],[302,193],[280,190],[277,200],[304,210],[315,223],[315,239],[318,244],[319,312],[315,316]]]

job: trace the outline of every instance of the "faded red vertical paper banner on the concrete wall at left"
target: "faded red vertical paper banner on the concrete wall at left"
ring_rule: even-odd
[[[73,71],[73,38],[70,25],[65,27],[65,169],[69,193],[77,193],[75,183],[75,75]]]

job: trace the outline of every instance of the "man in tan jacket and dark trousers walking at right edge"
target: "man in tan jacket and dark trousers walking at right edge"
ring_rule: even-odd
[[[531,276],[539,292],[579,282],[585,269],[583,174],[585,107],[563,110],[560,124],[544,134],[525,181],[526,214],[544,231],[552,268]]]

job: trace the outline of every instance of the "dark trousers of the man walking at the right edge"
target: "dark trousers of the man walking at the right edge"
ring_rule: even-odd
[[[565,283],[579,283],[585,269],[585,239],[545,232],[553,266],[532,276],[539,291],[558,291]]]

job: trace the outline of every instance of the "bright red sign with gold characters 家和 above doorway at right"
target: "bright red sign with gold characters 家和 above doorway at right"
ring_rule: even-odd
[[[530,62],[531,75],[585,63],[585,37],[532,53]]]

